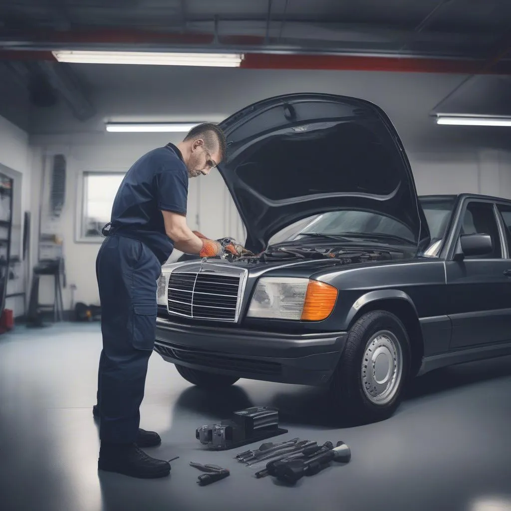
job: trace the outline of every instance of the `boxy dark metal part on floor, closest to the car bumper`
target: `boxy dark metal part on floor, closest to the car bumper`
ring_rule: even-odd
[[[278,427],[278,409],[254,406],[233,413],[220,424],[200,426],[195,437],[210,449],[227,450],[287,433]]]

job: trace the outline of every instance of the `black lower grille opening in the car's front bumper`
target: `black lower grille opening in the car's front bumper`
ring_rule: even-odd
[[[187,348],[185,350],[176,349],[170,345],[164,346],[162,344],[155,344],[154,350],[160,355],[171,357],[182,362],[188,362],[189,364],[239,371],[240,374],[279,375],[282,373],[281,364],[276,362],[232,357],[193,348]]]

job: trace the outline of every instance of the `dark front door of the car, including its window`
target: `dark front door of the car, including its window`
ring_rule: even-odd
[[[493,201],[467,198],[460,211],[454,241],[462,234],[487,234],[488,254],[446,261],[451,349],[502,342],[511,338],[511,269],[499,212]]]

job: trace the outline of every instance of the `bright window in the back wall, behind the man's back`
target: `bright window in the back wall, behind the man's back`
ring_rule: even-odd
[[[101,229],[110,221],[113,199],[124,172],[84,172],[81,179],[78,240],[101,240]]]

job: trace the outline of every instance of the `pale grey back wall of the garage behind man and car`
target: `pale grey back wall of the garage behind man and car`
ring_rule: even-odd
[[[43,115],[35,111],[32,120],[33,146],[47,155],[62,153],[67,160],[66,203],[58,228],[64,237],[67,283],[77,286],[75,301],[98,301],[95,259],[99,245],[75,242],[81,172],[127,170],[146,151],[180,140],[168,136],[172,134],[106,133],[105,120],[217,121],[249,103],[286,91],[357,96],[374,101],[389,114],[402,137],[420,194],[482,192],[511,197],[511,157],[499,138],[502,131],[445,129],[427,115],[459,83],[460,76],[165,66],[134,73],[130,66],[110,67],[101,66],[99,72],[87,75],[92,90],[97,87],[94,118],[80,123],[62,106]],[[125,86],[119,87],[120,83]],[[191,180],[188,218],[192,228],[212,238],[243,238],[234,204],[215,173]],[[41,296],[51,302],[52,290],[43,286]],[[64,307],[70,299],[68,288]]]

